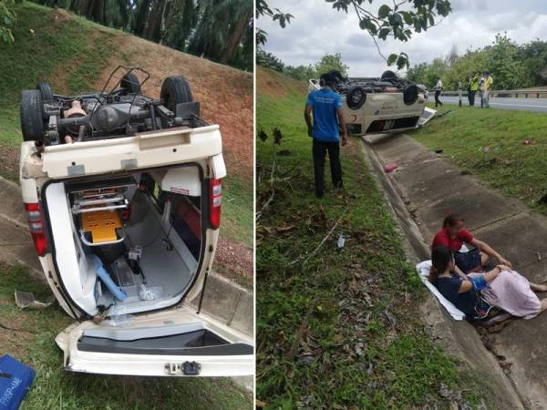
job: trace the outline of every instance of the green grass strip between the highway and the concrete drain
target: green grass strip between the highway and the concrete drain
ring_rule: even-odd
[[[547,214],[547,116],[542,113],[448,106],[452,112],[412,132],[429,149],[442,149],[463,172]],[[530,144],[524,141],[529,141]]]

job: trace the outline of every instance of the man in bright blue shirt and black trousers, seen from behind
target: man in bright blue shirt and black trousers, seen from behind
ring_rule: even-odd
[[[328,151],[331,177],[335,188],[342,188],[342,166],[340,165],[340,136],[342,128],[342,145],[346,145],[346,121],[342,114],[342,99],[335,93],[333,86],[339,73],[329,72],[321,76],[321,89],[308,94],[305,103],[304,118],[308,135],[314,138],[315,196],[323,198],[325,194],[325,155]],[[313,113],[314,121],[310,114]]]

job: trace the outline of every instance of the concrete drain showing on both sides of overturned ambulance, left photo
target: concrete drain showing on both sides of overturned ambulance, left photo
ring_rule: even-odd
[[[0,177],[0,191],[0,260],[26,265],[33,277],[46,284],[28,233],[19,186]],[[196,308],[199,297],[191,301]],[[218,273],[209,274],[201,311],[240,332],[253,335],[253,293]],[[253,390],[253,376],[233,377],[233,380]]]

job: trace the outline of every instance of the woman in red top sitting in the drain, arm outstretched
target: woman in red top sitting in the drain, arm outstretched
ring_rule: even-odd
[[[462,252],[462,245],[470,244],[474,249]],[[464,220],[458,214],[449,214],[442,222],[442,229],[433,238],[431,248],[440,245],[448,247],[454,252],[456,265],[463,273],[482,272],[483,266],[489,262],[489,256],[497,259],[502,265],[511,268],[511,262],[501,257],[500,253],[494,251],[486,242],[473,238],[470,231],[464,227]]]

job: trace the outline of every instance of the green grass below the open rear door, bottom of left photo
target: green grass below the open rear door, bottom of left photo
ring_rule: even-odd
[[[46,285],[29,277],[25,268],[0,268],[0,323],[20,329],[0,329],[2,354],[12,354],[36,370],[35,383],[21,409],[251,409],[253,400],[229,379],[182,379],[67,373],[55,336],[72,320],[54,304],[45,310],[20,310],[14,290],[51,297]],[[4,343],[9,340],[9,343]]]

